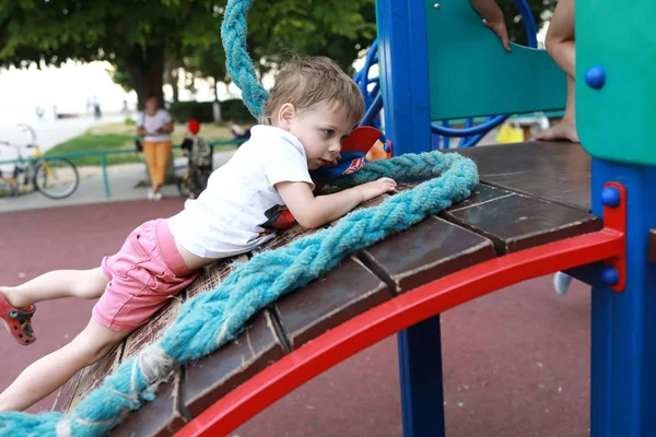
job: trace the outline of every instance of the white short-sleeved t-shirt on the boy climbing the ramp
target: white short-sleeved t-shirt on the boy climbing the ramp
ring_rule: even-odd
[[[247,252],[289,227],[291,214],[273,188],[278,182],[314,184],[301,142],[285,130],[255,126],[250,139],[212,173],[208,188],[168,218],[174,238],[202,258]]]

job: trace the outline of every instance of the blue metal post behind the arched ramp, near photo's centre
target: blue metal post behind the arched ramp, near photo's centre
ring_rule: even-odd
[[[421,0],[376,2],[380,92],[385,104],[385,135],[396,155],[429,152],[426,3]],[[398,335],[403,435],[442,437],[442,344],[440,317]]]

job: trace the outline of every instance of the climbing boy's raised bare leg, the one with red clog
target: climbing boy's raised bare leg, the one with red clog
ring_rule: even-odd
[[[15,287],[0,287],[0,293],[11,306],[27,308],[37,302],[60,297],[95,299],[101,297],[107,282],[99,267],[91,270],[56,270]]]

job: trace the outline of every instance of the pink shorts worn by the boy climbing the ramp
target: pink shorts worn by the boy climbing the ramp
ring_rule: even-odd
[[[93,308],[93,318],[114,331],[145,323],[198,275],[185,265],[162,218],[132,231],[118,253],[103,258],[102,269],[109,283]]]

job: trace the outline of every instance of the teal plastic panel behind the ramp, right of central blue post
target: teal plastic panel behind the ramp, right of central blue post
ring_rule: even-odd
[[[425,7],[432,120],[564,107],[565,74],[546,50],[506,52],[467,0]]]

